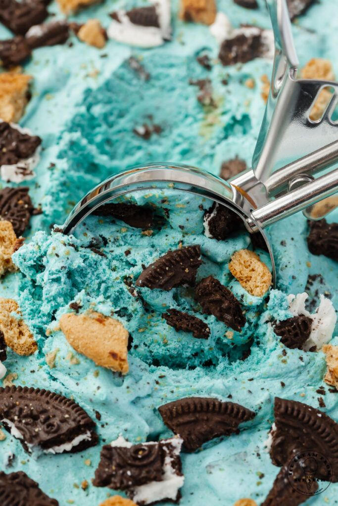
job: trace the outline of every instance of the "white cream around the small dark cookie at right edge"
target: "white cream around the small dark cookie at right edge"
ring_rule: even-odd
[[[322,346],[332,339],[337,317],[332,302],[323,295],[320,296],[320,304],[314,314],[305,309],[305,301],[308,298],[307,293],[298,293],[297,296],[290,294],[287,297],[289,311],[293,316],[305,315],[312,318],[311,333],[309,339],[305,342],[303,349],[309,351],[316,346],[321,350]]]

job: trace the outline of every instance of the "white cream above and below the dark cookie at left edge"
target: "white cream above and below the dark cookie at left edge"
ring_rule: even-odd
[[[2,120],[0,120],[2,121]],[[18,130],[21,134],[32,135],[32,132],[28,128],[21,128],[21,126],[16,123],[10,123],[11,127],[15,130]],[[17,163],[13,163],[11,165],[1,165],[0,166],[0,177],[6,182],[12,183],[22,183],[22,181],[27,181],[28,179],[32,179],[35,176],[33,172],[33,168],[40,161],[40,151],[41,146],[37,146],[34,153],[29,156],[29,158],[23,158],[19,160]]]

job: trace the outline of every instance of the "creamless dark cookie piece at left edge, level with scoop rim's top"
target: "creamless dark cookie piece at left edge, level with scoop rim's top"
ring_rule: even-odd
[[[6,186],[0,190],[0,217],[12,223],[17,236],[25,231],[31,215],[35,213],[28,190],[28,186]]]

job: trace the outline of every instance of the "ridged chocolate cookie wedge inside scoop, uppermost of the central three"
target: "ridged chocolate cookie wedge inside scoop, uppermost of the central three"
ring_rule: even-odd
[[[149,265],[136,281],[136,286],[154,290],[171,290],[187,284],[194,286],[197,269],[202,264],[200,245],[169,250],[163,257]]]

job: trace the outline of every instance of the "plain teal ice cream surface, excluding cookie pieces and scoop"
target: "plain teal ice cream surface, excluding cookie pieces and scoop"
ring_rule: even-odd
[[[232,0],[221,0],[218,10],[225,12],[234,26],[255,23],[269,27],[264,2],[259,4],[259,10],[249,11]],[[127,7],[132,5],[128,2]],[[82,22],[98,17],[107,26],[108,13],[125,6],[122,1],[107,0],[72,20]],[[58,12],[54,3],[50,9]],[[293,31],[301,65],[311,57],[326,57],[338,75],[338,21],[332,15],[333,9],[333,0],[322,0],[299,18]],[[260,77],[271,74],[272,62],[256,59],[235,67],[214,63],[212,70],[207,71],[197,63],[196,56],[203,50],[212,60],[216,58],[215,39],[208,27],[178,21],[176,2],[172,10],[173,40],[161,48],[140,50],[110,40],[103,50],[97,50],[73,37],[72,47],[34,51],[33,59],[25,66],[25,71],[34,77],[33,94],[20,124],[41,135],[44,148],[36,178],[28,186],[34,204],[41,203],[44,213],[32,218],[31,229],[25,234],[26,244],[15,254],[21,272],[6,276],[1,292],[20,304],[39,351],[31,357],[19,357],[9,351],[6,366],[18,374],[16,385],[48,388],[73,396],[94,419],[95,411],[99,411],[100,443],[80,454],[42,455],[34,459],[8,435],[0,442],[0,468],[5,469],[7,454],[12,451],[16,459],[13,468],[6,472],[25,471],[46,493],[57,498],[60,506],[96,506],[103,501],[111,491],[91,484],[101,446],[119,433],[134,442],[169,436],[157,408],[192,395],[222,400],[231,395],[234,402],[257,414],[239,435],[208,443],[195,454],[182,454],[185,483],[181,506],[204,506],[206,502],[233,506],[242,497],[251,497],[260,504],[278,473],[264,449],[273,423],[274,397],[299,400],[318,408],[316,390],[326,385],[324,355],[286,350],[284,356],[283,346],[269,325],[269,321],[289,316],[286,295],[303,292],[309,274],[323,277],[322,284],[309,287],[314,308],[318,295],[324,292],[338,308],[337,264],[309,253],[308,228],[302,214],[269,230],[277,264],[277,290],[270,292],[269,301],[248,296],[229,274],[229,258],[232,252],[249,244],[246,236],[235,235],[224,242],[206,238],[202,212],[198,210],[200,202],[191,196],[180,196],[179,203],[186,207],[177,208],[175,194],[166,192],[172,226],[168,235],[166,230],[155,230],[153,236],[146,237],[121,222],[98,223],[95,217],[86,220],[76,237],[69,238],[75,247],[59,233],[50,235],[50,227],[62,224],[71,207],[88,190],[125,167],[163,160],[197,165],[219,174],[221,162],[236,155],[250,165],[265,108],[260,97]],[[0,27],[0,38],[6,34],[9,32]],[[130,56],[141,58],[151,75],[148,81],[142,81],[130,69]],[[255,79],[254,89],[244,84],[251,77]],[[216,103],[213,109],[203,108],[196,98],[197,87],[189,85],[190,79],[200,78],[211,79]],[[222,82],[224,79],[227,85]],[[144,140],[133,133],[135,127],[151,121],[161,126],[159,135]],[[156,202],[157,197],[152,199]],[[205,202],[202,204],[206,206]],[[182,220],[187,227],[184,232],[179,228]],[[330,220],[338,221],[337,214]],[[127,231],[121,232],[122,227]],[[106,257],[86,247],[92,237]],[[108,240],[106,245],[102,237]],[[142,297],[153,309],[149,319],[141,304],[130,297],[123,277],[137,276],[142,263],[148,265],[167,249],[178,247],[180,240],[183,245],[201,244],[206,263],[200,268],[199,277],[213,273],[241,298],[248,323],[241,333],[234,332],[233,339],[224,335],[231,329],[212,316],[202,317],[212,329],[210,341],[195,340],[191,334],[176,333],[168,327],[161,318],[165,309],[194,308],[189,290],[178,288],[161,293],[143,288]],[[126,257],[124,251],[129,247],[131,254]],[[81,300],[84,310],[94,303],[95,309],[106,315],[114,311],[114,317],[130,331],[133,347],[129,353],[130,372],[125,378],[95,366],[76,352],[73,355],[80,363],[71,365],[67,359],[71,348],[62,333],[55,330],[47,338],[47,328],[53,328],[59,316],[68,311],[69,303],[77,300]],[[241,361],[249,342],[251,354]],[[333,343],[338,344],[338,339]],[[50,369],[45,354],[55,348],[59,348],[56,367]],[[205,362],[208,366],[203,366]],[[326,408],[322,410],[338,421],[338,394],[328,392],[328,388],[326,392]],[[85,465],[87,459],[90,466]],[[260,478],[261,474],[264,477]],[[86,491],[81,489],[83,480],[89,483]],[[322,495],[305,504],[336,504],[337,492],[337,485],[330,485]]]

